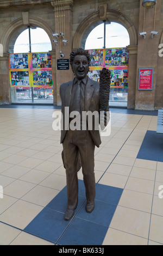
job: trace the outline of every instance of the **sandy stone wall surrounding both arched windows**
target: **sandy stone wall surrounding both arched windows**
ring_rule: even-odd
[[[17,36],[28,25],[40,26],[45,29],[52,42],[54,104],[60,105],[59,87],[62,82],[71,80],[71,69],[57,70],[57,59],[60,54],[60,44],[55,45],[52,33],[55,32],[54,9],[56,0],[33,1],[0,1],[0,44],[3,45],[3,57],[0,57],[0,105],[10,103],[8,53],[13,51]],[[64,0],[65,31],[68,43],[61,50],[65,58],[69,58],[74,48],[84,47],[87,35],[102,23],[99,15],[99,5],[107,4],[106,19],[121,23],[127,28],[130,36],[129,50],[129,88],[128,108],[154,109],[163,107],[163,57],[158,56],[158,45],[163,40],[163,3],[157,0],[155,31],[158,35],[151,38],[153,31],[154,10],[146,10],[146,39],[139,36],[143,29],[144,8],[142,0]],[[27,20],[22,13],[28,13]],[[25,21],[26,20],[26,21]],[[162,37],[161,37],[162,36]],[[163,43],[163,41],[161,42]],[[154,84],[152,91],[139,91],[139,68],[154,68]],[[63,73],[64,72],[64,73]]]

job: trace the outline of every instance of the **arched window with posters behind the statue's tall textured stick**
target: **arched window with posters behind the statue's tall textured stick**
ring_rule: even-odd
[[[95,27],[85,42],[85,50],[91,55],[89,77],[99,82],[102,68],[111,71],[110,106],[127,107],[129,44],[127,29],[107,21]]]

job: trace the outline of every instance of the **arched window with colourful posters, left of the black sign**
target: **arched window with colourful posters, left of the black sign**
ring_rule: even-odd
[[[10,53],[12,103],[53,104],[52,44],[41,28],[29,26],[16,39]]]

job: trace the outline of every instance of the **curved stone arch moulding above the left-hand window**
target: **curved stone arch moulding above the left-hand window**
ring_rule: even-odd
[[[53,42],[53,36],[52,36],[52,29],[45,23],[44,21],[40,19],[36,19],[34,17],[29,18],[29,24],[34,25],[36,27],[40,27],[46,31],[48,34],[51,44],[52,44],[52,50],[55,50],[55,44]],[[12,22],[8,28],[5,30],[1,44],[3,45],[3,51],[12,53],[13,45],[15,44],[15,41],[25,29],[27,29],[27,25],[23,24],[23,19],[17,19],[16,21]]]

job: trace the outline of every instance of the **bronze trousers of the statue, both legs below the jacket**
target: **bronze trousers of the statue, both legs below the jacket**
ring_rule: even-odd
[[[67,208],[76,209],[78,204],[78,154],[82,161],[83,180],[88,204],[95,201],[95,144],[89,131],[67,131],[64,139],[64,160],[67,180]]]

